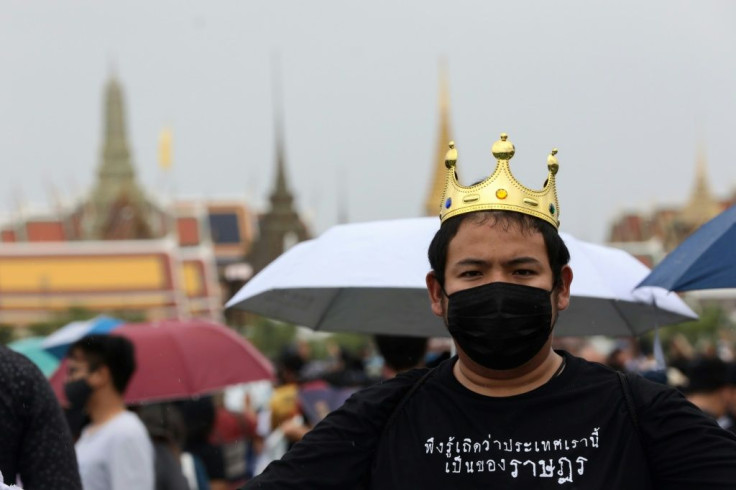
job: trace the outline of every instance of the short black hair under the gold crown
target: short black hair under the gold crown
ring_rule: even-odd
[[[552,268],[552,277],[554,278],[552,287],[556,289],[562,285],[562,267],[570,262],[570,252],[554,226],[534,216],[516,211],[478,211],[449,218],[442,223],[440,229],[435,233],[432,243],[429,244],[427,252],[429,264],[434,271],[437,282],[443,288],[445,286],[447,250],[450,241],[457,235],[460,225],[465,220],[471,220],[477,224],[492,220],[493,225],[503,226],[504,229],[518,226],[522,233],[541,233],[547,247],[549,265]]]

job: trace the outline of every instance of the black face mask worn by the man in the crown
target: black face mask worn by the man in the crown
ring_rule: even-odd
[[[550,291],[492,282],[448,296],[447,329],[473,361],[513,369],[534,357],[552,333]]]

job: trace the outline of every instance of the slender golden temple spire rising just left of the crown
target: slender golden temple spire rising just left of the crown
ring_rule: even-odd
[[[424,214],[426,216],[438,216],[440,214],[446,181],[445,153],[447,152],[447,143],[452,139],[450,88],[447,75],[447,60],[444,58],[440,60],[439,109],[439,130],[437,132],[436,150],[432,160],[432,177],[427,200],[424,203]]]

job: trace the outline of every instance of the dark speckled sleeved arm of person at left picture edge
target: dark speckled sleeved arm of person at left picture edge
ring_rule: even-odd
[[[17,368],[16,399],[25,427],[18,457],[23,488],[81,490],[74,442],[51,386],[27,359],[19,359]]]

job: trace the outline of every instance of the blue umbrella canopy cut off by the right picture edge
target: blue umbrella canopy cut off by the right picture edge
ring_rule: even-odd
[[[736,288],[736,204],[698,228],[639,286],[670,291]]]

